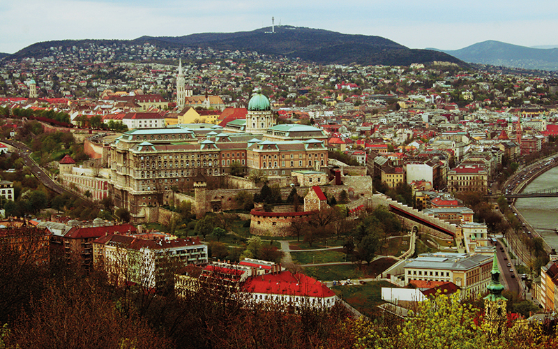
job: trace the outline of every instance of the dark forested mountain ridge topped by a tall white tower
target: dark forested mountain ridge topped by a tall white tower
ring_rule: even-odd
[[[202,33],[188,36],[142,36],[135,40],[57,40],[36,43],[11,55],[24,57],[45,54],[51,45],[76,45],[90,43],[151,43],[160,48],[212,47],[216,50],[256,51],[262,54],[299,57],[318,64],[362,64],[409,66],[413,63],[432,64],[448,62],[458,66],[468,65],[449,54],[434,50],[409,49],[380,36],[341,34],[323,29],[278,26],[235,33]]]

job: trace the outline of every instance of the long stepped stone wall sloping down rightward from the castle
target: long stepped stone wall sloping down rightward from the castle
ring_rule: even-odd
[[[384,194],[372,195],[371,201],[372,201],[372,206],[374,206],[374,207],[384,206],[384,207],[389,208],[389,205],[393,205],[394,207],[397,207],[398,209],[400,209],[401,211],[406,212],[407,214],[412,214],[414,216],[418,216],[419,218],[423,219],[424,221],[427,221],[428,223],[430,223],[432,225],[437,225],[440,228],[444,228],[446,230],[449,230],[450,232],[452,232],[454,234],[454,236],[457,239],[461,238],[460,237],[461,230],[458,228],[457,225],[448,223],[446,221],[442,221],[438,218],[435,218],[435,216],[431,216],[431,215],[428,215],[428,214],[423,214],[421,211],[417,211],[416,209],[413,209],[412,207],[408,207],[407,205],[402,205],[400,202],[391,200],[391,198],[387,197]],[[427,232],[428,234],[435,235],[437,237],[441,237],[442,239],[447,239],[448,238],[447,234],[444,234],[443,232],[440,232],[439,230],[435,230],[434,228],[430,228],[426,225],[423,225],[421,223],[413,221],[409,218],[405,218],[403,216],[399,216],[399,217],[400,217],[403,225],[405,226],[405,228],[412,229],[413,225],[417,225],[418,228],[419,228],[418,230],[420,232]]]

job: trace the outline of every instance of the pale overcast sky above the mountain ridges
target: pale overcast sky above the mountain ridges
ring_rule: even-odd
[[[411,48],[558,45],[555,0],[1,0],[0,52],[49,40],[250,31],[271,26],[272,16],[276,25],[383,36]]]

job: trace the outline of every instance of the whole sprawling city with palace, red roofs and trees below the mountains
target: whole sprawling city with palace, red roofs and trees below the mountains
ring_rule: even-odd
[[[557,346],[550,73],[42,44],[0,61],[1,348]]]

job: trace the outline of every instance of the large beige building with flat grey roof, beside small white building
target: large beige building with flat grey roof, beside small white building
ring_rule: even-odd
[[[405,283],[413,280],[453,282],[465,298],[485,292],[492,255],[478,253],[422,253],[404,266]]]

